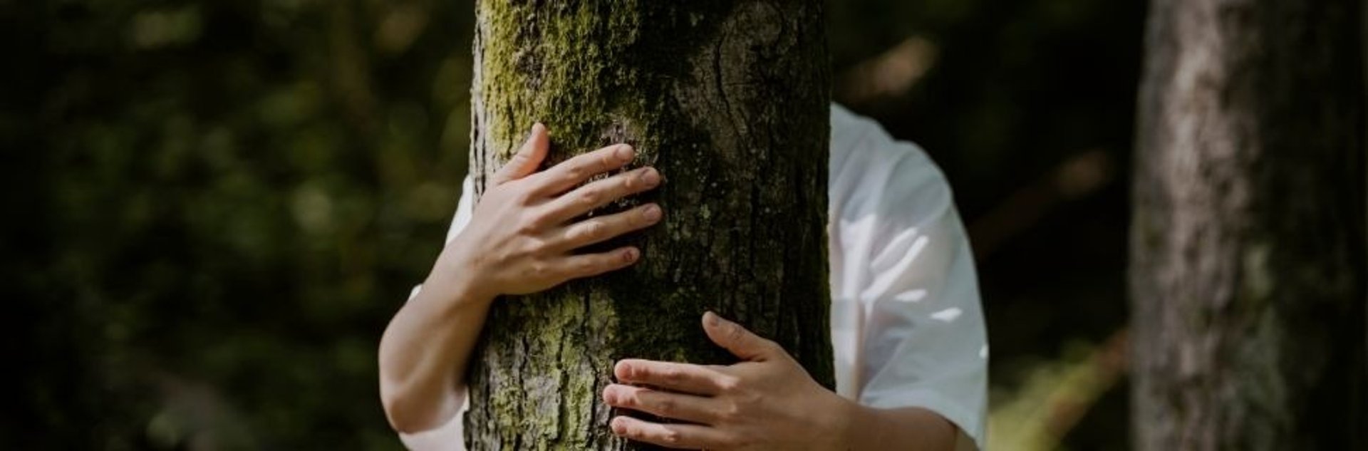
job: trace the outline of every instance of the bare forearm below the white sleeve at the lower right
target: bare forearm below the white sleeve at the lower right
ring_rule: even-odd
[[[878,409],[851,402],[847,418],[848,450],[955,450],[955,425],[926,409]]]

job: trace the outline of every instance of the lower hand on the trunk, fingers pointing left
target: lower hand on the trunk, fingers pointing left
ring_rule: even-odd
[[[676,421],[614,417],[613,433],[669,448],[833,450],[854,403],[814,381],[778,343],[709,312],[703,329],[743,361],[691,365],[622,359],[603,402]]]

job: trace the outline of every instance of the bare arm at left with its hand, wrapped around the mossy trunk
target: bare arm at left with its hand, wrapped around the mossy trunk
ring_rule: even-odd
[[[576,217],[659,184],[654,168],[639,168],[580,186],[632,161],[627,145],[580,154],[536,172],[549,146],[546,128],[532,137],[490,179],[471,223],[438,257],[419,295],[386,327],[380,339],[380,402],[390,425],[421,432],[450,421],[457,395],[490,305],[503,294],[542,291],[570,279],[625,268],[640,250],[575,250],[655,224],[658,205]]]

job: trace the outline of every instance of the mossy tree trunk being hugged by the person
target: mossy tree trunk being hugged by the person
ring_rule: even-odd
[[[725,364],[705,310],[833,385],[826,266],[829,68],[821,1],[476,3],[476,193],[534,122],[547,165],[636,146],[665,220],[635,266],[502,299],[471,370],[473,450],[633,448],[599,392],[620,358]]]

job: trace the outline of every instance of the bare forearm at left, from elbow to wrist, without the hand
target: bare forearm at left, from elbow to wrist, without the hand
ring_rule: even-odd
[[[380,339],[380,400],[399,432],[432,429],[458,413],[457,392],[492,299],[443,266],[438,258]]]

